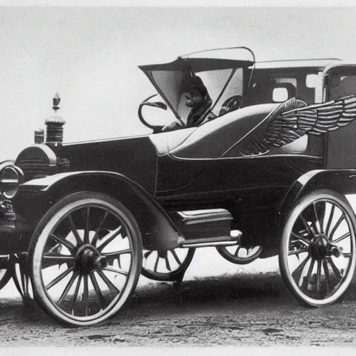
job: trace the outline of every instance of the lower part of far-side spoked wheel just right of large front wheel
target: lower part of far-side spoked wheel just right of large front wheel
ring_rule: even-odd
[[[191,264],[194,248],[176,248],[163,252],[144,250],[142,275],[156,281],[181,280]]]

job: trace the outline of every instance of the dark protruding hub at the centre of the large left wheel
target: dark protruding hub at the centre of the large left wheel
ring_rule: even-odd
[[[83,245],[76,252],[74,270],[83,275],[88,275],[94,270],[102,269],[106,266],[108,266],[108,259],[92,245]]]

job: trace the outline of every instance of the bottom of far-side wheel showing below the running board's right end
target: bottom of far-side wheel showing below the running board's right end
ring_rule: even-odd
[[[233,264],[250,264],[259,258],[262,252],[262,246],[251,246],[249,248],[241,245],[218,246],[216,250],[218,250],[219,254],[227,259],[227,261]]]

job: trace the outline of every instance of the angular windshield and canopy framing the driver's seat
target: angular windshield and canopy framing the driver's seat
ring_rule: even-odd
[[[204,113],[200,117],[207,117],[209,114],[217,117],[221,113],[227,113],[227,108],[229,111],[239,108],[239,105],[236,106],[236,100],[233,105],[225,108],[224,105],[229,98],[236,99],[236,96],[244,95],[252,65],[254,65],[254,54],[250,49],[232,47],[195,52],[178,57],[170,63],[139,67],[175,117],[182,123],[186,123],[188,116],[195,118],[198,113]],[[198,81],[201,82],[199,85]],[[198,94],[193,90],[197,85],[200,86]],[[204,105],[201,105],[198,110],[199,92],[204,97]],[[201,99],[200,103],[202,102]],[[241,103],[241,100],[237,102]],[[196,110],[193,111],[192,108]]]

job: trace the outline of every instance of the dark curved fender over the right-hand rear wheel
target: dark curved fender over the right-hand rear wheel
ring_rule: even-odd
[[[301,197],[319,188],[328,188],[342,195],[356,193],[356,170],[311,170],[297,179],[280,205],[280,221]]]

